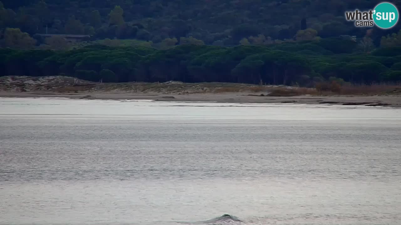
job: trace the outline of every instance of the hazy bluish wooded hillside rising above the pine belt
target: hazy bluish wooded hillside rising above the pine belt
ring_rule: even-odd
[[[2,46],[31,48],[58,40],[41,40],[37,33],[90,34],[93,40],[137,39],[152,43],[182,38],[207,45],[235,46],[286,40],[338,37],[362,38],[369,28],[345,20],[348,10],[372,9],[379,0],[3,0],[0,2]],[[392,1],[401,7],[400,0]],[[369,38],[380,46],[383,36],[397,33],[401,23],[383,30],[373,28]],[[17,28],[24,34],[6,28]],[[309,34],[300,30],[311,29]],[[22,44],[8,41],[21,36]],[[258,36],[265,40],[258,40]],[[173,39],[173,40],[172,40]],[[184,39],[185,40],[185,39]],[[53,44],[52,44],[53,43]],[[165,43],[166,44],[166,43]],[[171,44],[171,43],[170,43]]]

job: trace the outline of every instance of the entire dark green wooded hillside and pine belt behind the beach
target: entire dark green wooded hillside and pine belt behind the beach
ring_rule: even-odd
[[[313,86],[401,80],[401,23],[355,27],[372,0],[3,0],[0,76]],[[393,1],[398,7],[401,1]],[[83,42],[38,34],[87,34]]]

